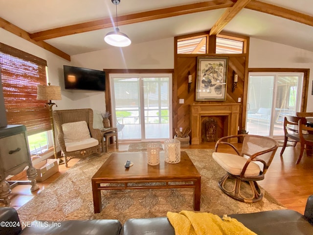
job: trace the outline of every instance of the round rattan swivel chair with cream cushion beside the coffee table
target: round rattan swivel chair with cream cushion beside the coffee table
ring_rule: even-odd
[[[238,137],[244,138],[241,151],[230,143],[231,138]],[[231,146],[236,154],[218,152],[220,144]],[[264,179],[277,148],[277,141],[264,136],[242,134],[219,139],[213,159],[226,170],[219,187],[235,200],[246,203],[260,201],[263,193],[256,181]]]

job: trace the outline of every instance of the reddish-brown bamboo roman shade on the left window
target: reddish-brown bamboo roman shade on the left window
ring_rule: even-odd
[[[45,100],[37,85],[46,85],[45,60],[0,43],[0,70],[8,124],[22,124],[28,134],[51,130]]]

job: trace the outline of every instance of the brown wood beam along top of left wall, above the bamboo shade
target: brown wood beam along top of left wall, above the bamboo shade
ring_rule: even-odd
[[[59,50],[56,47],[51,46],[50,44],[47,44],[45,42],[36,42],[34,40],[32,40],[30,38],[30,34],[28,32],[26,32],[25,30],[23,30],[22,28],[11,24],[10,22],[0,18],[0,27],[5,29],[6,31],[9,31],[10,33],[13,33],[19,37],[21,37],[22,39],[27,40],[28,42],[31,42],[39,47],[42,47],[50,52],[52,52],[53,54],[56,54],[60,57],[62,57],[63,59],[66,59],[68,61],[70,61],[70,55],[68,55],[67,53],[63,52],[62,50]]]

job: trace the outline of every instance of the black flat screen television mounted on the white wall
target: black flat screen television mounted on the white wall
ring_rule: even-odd
[[[105,91],[105,71],[63,66],[65,89]]]

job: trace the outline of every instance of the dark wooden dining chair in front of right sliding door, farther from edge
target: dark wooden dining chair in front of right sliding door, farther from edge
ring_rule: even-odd
[[[305,118],[295,117],[295,116],[285,116],[284,117],[284,144],[283,148],[280,151],[280,155],[283,155],[287,142],[293,142],[293,147],[300,142],[299,137],[299,120],[302,119],[305,121]]]

